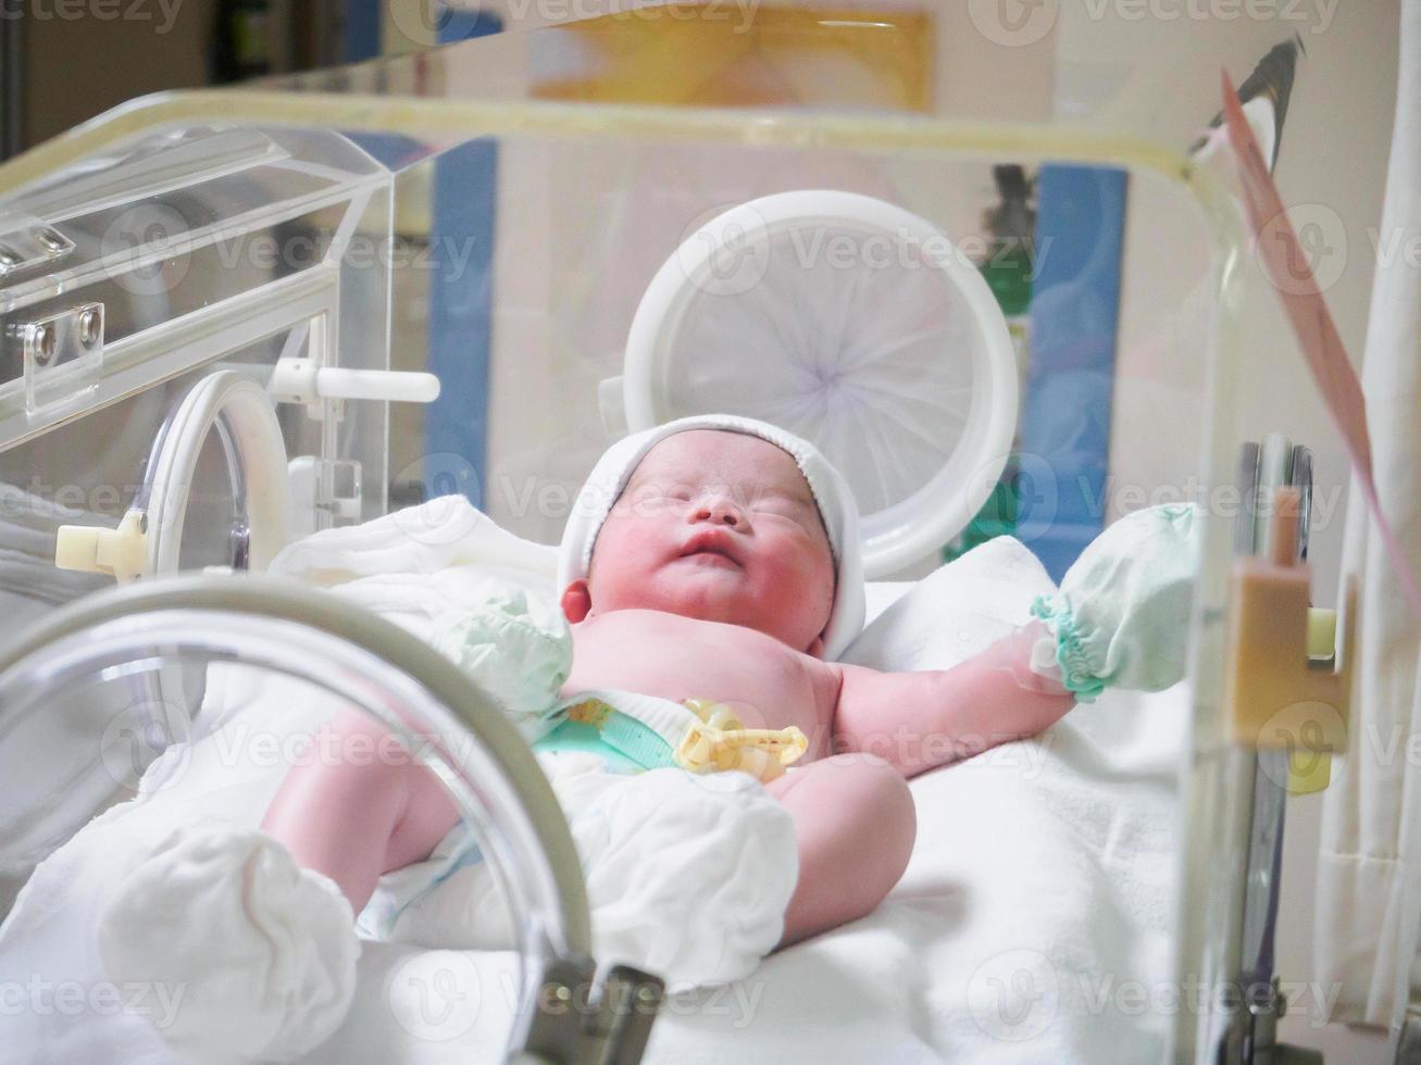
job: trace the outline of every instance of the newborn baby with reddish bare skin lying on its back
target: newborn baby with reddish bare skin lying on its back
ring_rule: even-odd
[[[733,427],[698,427],[708,420]],[[772,440],[791,442],[799,459]],[[809,444],[762,423],[688,419],[583,530],[590,554],[561,592],[574,642],[564,694],[729,703],[747,728],[803,730],[801,764],[766,785],[799,843],[782,946],[867,914],[897,883],[915,835],[907,777],[1033,736],[1073,704],[1059,684],[1022,680],[1030,628],[946,672],[826,660],[826,643],[837,653],[847,642],[844,602],[861,594],[847,564],[857,532],[826,511],[806,456],[847,498]],[[338,727],[381,736],[354,713]],[[428,856],[456,821],[418,764],[315,760],[290,772],[263,828],[358,913],[382,873]]]

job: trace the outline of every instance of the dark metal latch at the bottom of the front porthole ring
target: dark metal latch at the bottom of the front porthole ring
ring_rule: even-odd
[[[547,967],[529,1027],[523,1065],[637,1065],[665,998],[659,977],[612,966],[601,987],[593,963],[558,958]]]

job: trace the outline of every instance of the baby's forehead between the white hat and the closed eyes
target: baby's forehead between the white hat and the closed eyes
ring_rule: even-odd
[[[632,470],[628,487],[658,479],[780,487],[813,501],[809,481],[783,447],[749,433],[688,429],[657,443]]]

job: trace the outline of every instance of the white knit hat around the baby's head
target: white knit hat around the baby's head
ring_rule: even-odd
[[[828,532],[828,545],[834,552],[837,581],[834,605],[828,615],[828,626],[824,629],[824,657],[837,659],[864,628],[864,568],[858,542],[858,507],[843,474],[818,453],[814,444],[769,422],[733,415],[695,415],[632,433],[608,447],[583,484],[573,514],[563,530],[563,542],[557,554],[557,586],[567,588],[573,581],[587,577],[597,534],[647,452],[668,436],[689,429],[719,429],[757,436],[787,452],[799,464],[814,494],[814,503],[818,504],[818,514]]]

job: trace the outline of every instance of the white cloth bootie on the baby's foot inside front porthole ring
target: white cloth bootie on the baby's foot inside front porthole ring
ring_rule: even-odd
[[[270,836],[226,824],[163,839],[119,885],[98,944],[118,985],[180,995],[162,1035],[193,1065],[294,1061],[355,994],[345,896]]]

